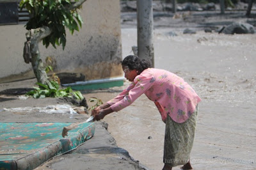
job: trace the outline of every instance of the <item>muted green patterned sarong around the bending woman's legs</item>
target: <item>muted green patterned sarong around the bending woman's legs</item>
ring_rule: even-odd
[[[164,164],[179,166],[188,163],[193,146],[198,106],[184,123],[177,123],[167,116],[164,136]]]

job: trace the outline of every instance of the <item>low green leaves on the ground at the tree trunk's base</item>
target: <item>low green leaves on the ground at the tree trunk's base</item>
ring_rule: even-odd
[[[33,87],[34,90],[29,91],[26,95],[31,96],[33,98],[45,98],[45,97],[74,97],[77,100],[83,100],[83,95],[80,91],[72,91],[70,87],[65,89],[60,89],[58,82],[49,81],[47,84],[42,84],[40,82],[36,82],[38,87]]]

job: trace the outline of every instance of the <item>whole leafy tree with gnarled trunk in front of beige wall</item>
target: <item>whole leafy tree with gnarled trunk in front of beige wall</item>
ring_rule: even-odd
[[[47,84],[48,77],[40,56],[38,44],[42,41],[45,47],[51,44],[54,48],[66,45],[67,27],[71,34],[79,31],[82,19],[79,9],[86,0],[22,0],[20,8],[26,8],[31,16],[26,24],[27,41],[24,44],[24,61],[33,67],[36,79]]]

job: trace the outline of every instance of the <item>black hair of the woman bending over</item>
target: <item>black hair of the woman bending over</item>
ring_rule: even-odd
[[[147,68],[151,68],[151,62],[146,59],[140,59],[138,56],[127,56],[122,61],[122,66],[128,66],[129,70],[138,70],[138,74]]]

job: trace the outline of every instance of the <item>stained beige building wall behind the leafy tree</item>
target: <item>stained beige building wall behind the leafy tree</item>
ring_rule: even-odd
[[[73,35],[67,29],[65,50],[51,45],[45,49],[40,43],[42,61],[50,56],[56,61],[55,73],[83,73],[86,80],[122,76],[120,2],[87,0],[80,15],[82,28]],[[0,26],[0,82],[35,77],[22,56],[26,31],[21,24]]]

